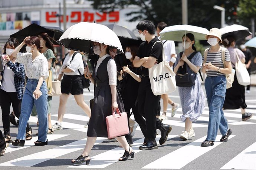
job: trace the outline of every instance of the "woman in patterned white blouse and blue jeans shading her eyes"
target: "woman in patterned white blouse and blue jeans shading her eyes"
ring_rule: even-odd
[[[19,52],[25,44],[27,45],[27,52]],[[28,78],[22,98],[18,135],[16,140],[12,142],[14,146],[24,146],[25,130],[34,103],[39,119],[38,140],[34,142],[35,146],[47,145],[48,142],[47,87],[45,79],[49,76],[49,72],[47,59],[40,53],[42,48],[39,38],[33,36],[26,37],[12,52],[12,56],[17,58],[17,62],[24,64],[25,73]]]

